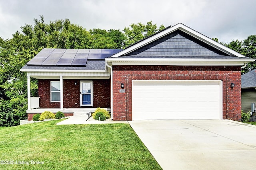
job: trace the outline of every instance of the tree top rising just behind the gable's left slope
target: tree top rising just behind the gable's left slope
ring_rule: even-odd
[[[160,25],[160,27],[157,29],[156,24],[152,24],[152,21],[147,22],[146,25],[142,23],[132,23],[130,27],[124,28],[124,35],[126,36],[126,40],[124,41],[125,47],[164,29],[163,25]]]

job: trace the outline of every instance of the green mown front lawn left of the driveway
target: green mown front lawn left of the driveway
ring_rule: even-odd
[[[0,169],[161,169],[129,124],[56,125],[62,120],[0,128],[0,160],[8,163]]]

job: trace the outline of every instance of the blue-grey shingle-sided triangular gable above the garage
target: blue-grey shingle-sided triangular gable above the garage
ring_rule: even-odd
[[[227,54],[177,30],[125,56],[129,55],[220,56]]]

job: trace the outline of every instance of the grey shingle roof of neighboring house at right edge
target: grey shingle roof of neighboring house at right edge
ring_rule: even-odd
[[[256,69],[251,70],[241,76],[242,88],[255,88],[256,87]]]

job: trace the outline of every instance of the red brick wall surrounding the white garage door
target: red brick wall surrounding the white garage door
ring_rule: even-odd
[[[239,66],[113,66],[113,120],[132,120],[132,80],[223,80],[223,119],[241,119]],[[126,93],[119,93],[124,83]],[[235,87],[231,89],[230,83]]]

